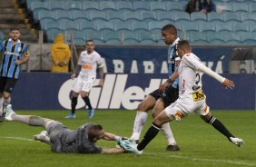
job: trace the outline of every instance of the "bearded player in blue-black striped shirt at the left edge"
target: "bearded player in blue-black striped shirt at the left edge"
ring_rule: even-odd
[[[11,103],[11,93],[21,72],[20,66],[29,60],[27,46],[19,40],[19,29],[11,28],[9,35],[11,38],[0,44],[3,55],[0,64],[0,122],[5,121],[5,107]]]

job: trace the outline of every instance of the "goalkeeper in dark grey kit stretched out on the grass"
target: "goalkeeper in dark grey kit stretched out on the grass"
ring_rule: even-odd
[[[112,133],[105,133],[99,124],[86,123],[76,130],[69,130],[63,123],[34,115],[19,115],[6,107],[5,119],[18,121],[30,126],[41,126],[46,131],[34,135],[34,140],[51,145],[52,152],[67,153],[120,153],[131,152],[129,144],[133,142]],[[49,137],[47,136],[49,134]],[[98,140],[116,141],[121,148],[103,149],[95,145]],[[133,152],[133,151],[132,151]]]

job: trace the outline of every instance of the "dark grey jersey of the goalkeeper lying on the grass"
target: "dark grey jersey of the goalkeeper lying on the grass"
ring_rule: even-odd
[[[70,153],[101,153],[103,149],[90,142],[87,136],[88,128],[94,123],[86,123],[78,129],[71,131],[67,128],[58,129],[51,133],[53,152]]]

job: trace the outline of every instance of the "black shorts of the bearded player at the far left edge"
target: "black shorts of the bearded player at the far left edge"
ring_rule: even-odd
[[[12,93],[18,79],[0,76],[0,93]]]

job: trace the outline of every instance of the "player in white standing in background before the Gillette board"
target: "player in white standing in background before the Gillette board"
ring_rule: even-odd
[[[81,94],[84,103],[89,109],[89,118],[94,117],[94,108],[91,105],[88,93],[94,85],[96,79],[96,70],[99,69],[100,82],[103,86],[103,61],[100,54],[94,51],[94,41],[86,41],[86,50],[83,51],[77,62],[78,67],[81,68],[80,73],[73,86],[73,96],[71,100],[71,113],[65,118],[75,118],[75,106],[77,104],[77,97]],[[71,75],[71,79],[74,79],[75,74]]]

